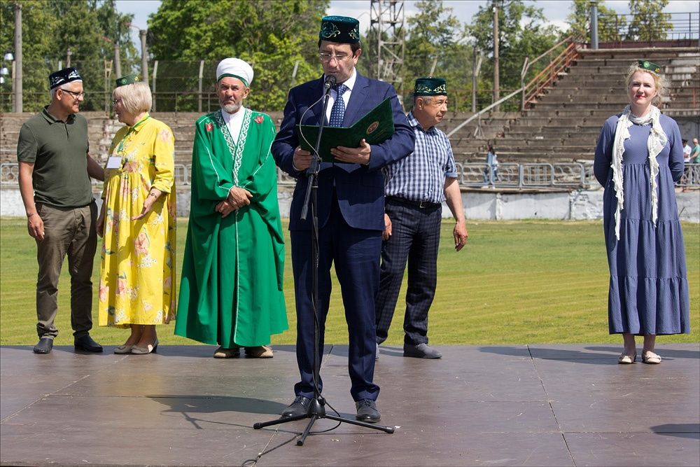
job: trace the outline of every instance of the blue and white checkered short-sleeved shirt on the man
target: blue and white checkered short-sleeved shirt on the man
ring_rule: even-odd
[[[416,146],[407,157],[384,167],[384,194],[441,203],[445,178],[457,178],[452,146],[447,135],[436,127],[423,130],[413,112],[409,112],[407,119],[416,134]]]

